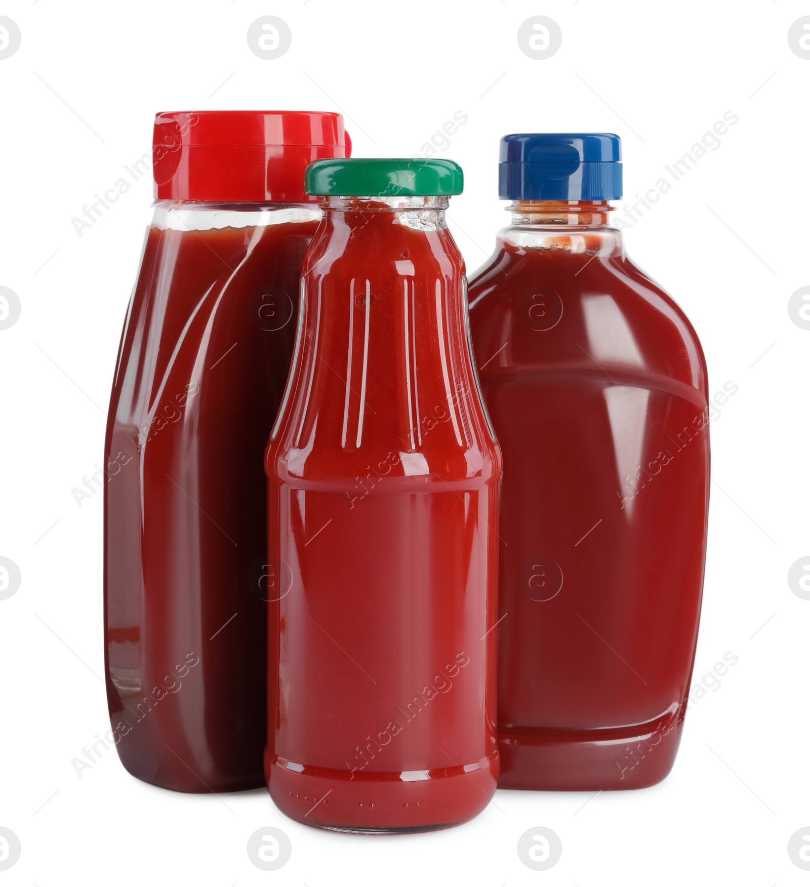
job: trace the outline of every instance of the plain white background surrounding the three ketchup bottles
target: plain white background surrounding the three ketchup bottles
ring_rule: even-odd
[[[3,4],[22,43],[0,60],[0,286],[19,295],[22,313],[0,330],[0,555],[19,565],[22,583],[0,600],[0,826],[20,837],[22,855],[0,883],[807,883],[787,842],[810,824],[810,601],[791,593],[787,573],[810,554],[810,330],[788,312],[790,294],[810,284],[810,60],[787,35],[808,13],[790,0]],[[266,14],[292,31],[280,59],[248,48],[248,26]],[[516,41],[537,14],[562,29],[562,48],[546,60]],[[739,115],[720,147],[625,232],[635,261],[695,325],[712,392],[739,387],[712,421],[695,682],[727,651],[739,662],[688,711],[660,785],[499,791],[460,828],[363,837],[287,820],[263,790],[217,798],[153,788],[113,752],[76,775],[72,758],[108,721],[101,494],[80,508],[71,490],[101,464],[149,177],[81,238],[71,219],[150,150],[156,111],[253,107],[342,110],[355,156],[420,152],[454,112],[467,114],[436,154],[466,173],[449,215],[470,271],[507,219],[501,135],[619,133],[633,202],[725,112]],[[266,825],[293,847],[270,874],[246,852]],[[562,859],[542,873],[516,853],[535,826],[562,840]]]

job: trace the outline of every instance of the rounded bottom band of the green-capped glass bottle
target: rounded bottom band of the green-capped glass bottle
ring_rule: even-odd
[[[265,765],[270,795],[290,819],[364,835],[436,831],[471,820],[494,795],[498,771],[497,751],[475,764],[409,773],[350,773],[280,757]]]

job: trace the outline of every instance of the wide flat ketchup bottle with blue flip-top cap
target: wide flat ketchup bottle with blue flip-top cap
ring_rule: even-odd
[[[510,135],[500,161],[512,222],[469,288],[504,459],[499,784],[641,788],[672,768],[695,657],[704,355],[609,224],[617,136]]]

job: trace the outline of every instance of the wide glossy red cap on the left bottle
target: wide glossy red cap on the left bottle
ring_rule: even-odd
[[[328,111],[170,111],[155,114],[156,200],[310,203],[303,171],[349,157],[342,114]]]

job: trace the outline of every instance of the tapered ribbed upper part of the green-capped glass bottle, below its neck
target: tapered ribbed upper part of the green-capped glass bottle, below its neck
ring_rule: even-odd
[[[452,238],[419,218],[362,222],[330,216],[304,263],[300,346],[268,476],[350,489],[371,473],[418,489],[499,475]]]

